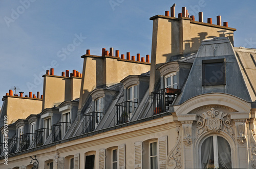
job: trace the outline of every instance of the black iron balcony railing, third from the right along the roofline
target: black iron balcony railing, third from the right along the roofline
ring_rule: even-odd
[[[83,133],[94,131],[103,117],[103,112],[92,111],[83,114]]]

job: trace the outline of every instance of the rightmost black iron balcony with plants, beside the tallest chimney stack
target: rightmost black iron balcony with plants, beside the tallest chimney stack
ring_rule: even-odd
[[[180,89],[165,88],[152,92],[152,115],[167,112],[169,105],[172,105],[174,99],[181,93]]]

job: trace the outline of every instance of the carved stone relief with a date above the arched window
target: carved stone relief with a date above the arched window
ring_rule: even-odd
[[[202,115],[199,116],[197,121],[197,137],[195,139],[205,132],[219,132],[222,130],[229,134],[234,141],[235,137],[231,127],[232,122],[230,115],[212,107],[210,110],[203,112]]]

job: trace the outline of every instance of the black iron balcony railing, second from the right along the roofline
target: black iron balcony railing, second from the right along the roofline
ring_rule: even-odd
[[[135,109],[138,106],[138,102],[125,101],[115,105],[115,124],[123,124],[130,121]]]

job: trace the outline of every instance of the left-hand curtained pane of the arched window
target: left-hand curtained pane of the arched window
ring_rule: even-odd
[[[214,143],[213,137],[206,138],[201,147],[202,168],[214,168]]]

